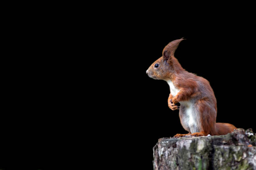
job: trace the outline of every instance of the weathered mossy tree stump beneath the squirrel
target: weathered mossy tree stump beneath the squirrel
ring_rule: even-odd
[[[237,129],[219,136],[161,138],[154,170],[256,170],[256,135]]]

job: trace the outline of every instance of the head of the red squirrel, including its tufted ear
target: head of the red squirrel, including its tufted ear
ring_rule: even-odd
[[[184,39],[174,40],[164,47],[162,56],[146,71],[149,77],[156,80],[172,80],[175,73],[184,70],[174,57],[174,52],[182,40]]]

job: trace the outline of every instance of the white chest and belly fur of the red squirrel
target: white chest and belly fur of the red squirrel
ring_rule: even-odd
[[[172,81],[167,81],[169,87],[170,87],[170,92],[172,96],[176,96],[177,93],[179,92],[179,89],[177,89]],[[184,117],[183,117],[183,124],[185,127],[189,128],[188,130],[191,133],[195,133],[198,131],[197,128],[197,123],[196,123],[196,116],[197,116],[197,110],[195,108],[195,103],[192,102],[191,100],[188,101],[180,101],[180,104],[184,106]]]

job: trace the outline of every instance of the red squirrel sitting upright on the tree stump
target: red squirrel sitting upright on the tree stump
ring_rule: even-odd
[[[236,127],[229,123],[216,123],[217,101],[210,83],[203,77],[187,72],[174,57],[179,43],[170,42],[146,71],[149,77],[165,80],[170,87],[168,106],[179,109],[182,127],[188,134],[177,134],[175,138],[190,136],[225,135]]]

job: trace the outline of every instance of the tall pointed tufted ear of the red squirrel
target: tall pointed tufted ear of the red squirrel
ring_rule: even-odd
[[[185,39],[181,38],[179,40],[174,40],[172,42],[169,42],[169,44],[164,47],[163,57],[165,61],[168,60],[170,57],[174,56],[174,52],[179,46],[179,42],[181,42],[182,40]]]

